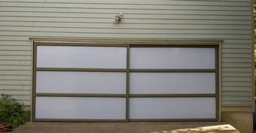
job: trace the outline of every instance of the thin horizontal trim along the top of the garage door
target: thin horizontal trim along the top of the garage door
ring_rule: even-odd
[[[118,45],[219,45],[220,39],[29,38],[43,43],[97,43]]]

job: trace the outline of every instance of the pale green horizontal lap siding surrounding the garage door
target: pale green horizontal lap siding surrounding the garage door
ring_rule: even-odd
[[[250,0],[1,0],[0,92],[30,105],[31,36],[223,39],[223,106],[251,106]],[[124,13],[120,23],[112,19]]]

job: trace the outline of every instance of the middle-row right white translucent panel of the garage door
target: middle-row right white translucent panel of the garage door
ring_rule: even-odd
[[[215,93],[215,73],[130,72],[130,93]]]

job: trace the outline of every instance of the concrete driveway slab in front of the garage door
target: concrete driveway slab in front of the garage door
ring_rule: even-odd
[[[19,132],[239,132],[223,122],[27,122]]]

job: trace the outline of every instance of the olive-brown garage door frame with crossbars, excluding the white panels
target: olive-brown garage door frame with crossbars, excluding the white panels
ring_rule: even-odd
[[[65,121],[65,122],[140,122],[140,121],[218,121],[219,120],[219,59],[218,47],[220,41],[173,41],[173,42],[108,42],[108,43],[62,43],[34,41],[33,43],[33,91],[32,91],[32,121]],[[97,46],[97,47],[126,47],[126,69],[93,69],[93,68],[37,68],[37,46]],[[130,47],[189,47],[189,48],[215,48],[215,69],[130,69]],[[126,72],[126,94],[65,94],[65,93],[36,93],[36,71],[100,71],[100,72]],[[130,72],[215,72],[215,94],[129,94]],[[125,120],[92,120],[92,119],[36,119],[36,97],[121,97],[126,98]],[[146,97],[215,97],[215,119],[129,119],[129,98]]]

